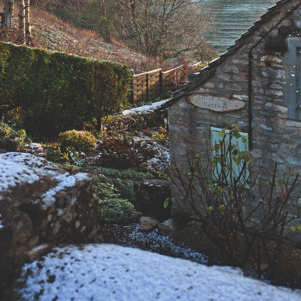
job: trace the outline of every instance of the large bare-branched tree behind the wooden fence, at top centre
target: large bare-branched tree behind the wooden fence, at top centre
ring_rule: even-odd
[[[115,0],[126,37],[144,53],[198,50],[213,22],[202,0]]]

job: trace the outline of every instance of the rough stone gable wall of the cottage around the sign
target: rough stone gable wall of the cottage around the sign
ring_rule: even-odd
[[[283,7],[283,15],[288,7]],[[181,97],[172,104],[168,111],[169,131],[171,137],[171,164],[184,169],[187,167],[186,150],[207,152],[210,148],[210,127],[224,128],[231,124],[240,125],[242,132],[248,133],[248,53],[251,47],[272,28],[281,18],[277,16],[261,24],[255,33],[246,38],[244,45],[234,54],[228,56],[215,67],[214,75],[198,87],[180,92]],[[292,66],[285,60],[285,47],[269,47],[268,43],[279,41],[285,45],[289,34],[301,30],[301,10],[296,10],[285,18],[276,29],[265,38],[253,51],[252,62],[252,152],[251,169],[259,164],[272,171],[278,163],[277,177],[286,176],[289,172],[301,172],[301,120],[289,118],[289,104],[285,103],[285,90],[294,74]],[[297,34],[296,34],[297,36]],[[276,51],[275,51],[276,50]],[[295,69],[294,69],[295,70]],[[239,98],[246,106],[238,111],[222,113],[197,108],[187,103],[186,97],[191,93],[209,93]],[[301,103],[301,101],[300,101]],[[300,108],[301,110],[301,108]],[[262,177],[268,178],[268,174]],[[301,192],[301,187],[296,192]],[[279,191],[280,193],[280,191]],[[177,201],[180,197],[178,188],[173,185],[173,213],[177,213],[183,204]],[[258,198],[255,192],[255,200]],[[254,202],[250,201],[250,208]],[[301,210],[290,208],[290,215]],[[184,205],[185,207],[185,205]],[[247,208],[246,208],[247,210]],[[260,216],[257,217],[260,219]],[[256,222],[256,221],[255,221]],[[301,219],[298,220],[301,223]],[[296,220],[292,224],[296,224]],[[300,233],[293,233],[288,225],[286,233],[293,240],[301,240]]]

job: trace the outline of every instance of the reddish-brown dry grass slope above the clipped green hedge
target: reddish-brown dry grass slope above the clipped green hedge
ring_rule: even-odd
[[[1,3],[0,3],[1,6]],[[15,12],[18,7],[15,6]],[[77,28],[68,21],[64,21],[45,9],[32,5],[30,8],[32,45],[48,50],[63,51],[73,55],[91,57],[95,59],[116,61],[128,65],[135,74],[162,68],[163,71],[173,67],[171,61],[146,56],[135,48],[113,40],[112,44],[103,41],[93,30]],[[15,13],[15,17],[17,14]],[[18,18],[13,19],[18,25]]]

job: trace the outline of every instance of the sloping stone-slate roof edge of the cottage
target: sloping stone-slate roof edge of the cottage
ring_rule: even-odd
[[[181,92],[184,90],[192,89],[211,77],[214,74],[214,67],[218,66],[222,63],[228,56],[235,53],[242,45],[245,45],[246,39],[254,34],[257,29],[261,26],[261,24],[266,23],[267,21],[274,18],[278,13],[281,12],[283,5],[292,2],[296,3],[296,0],[279,0],[277,3],[270,8],[267,9],[267,12],[264,13],[261,18],[254,22],[254,24],[245,32],[243,33],[240,38],[235,40],[235,44],[228,47],[227,51],[221,54],[217,59],[211,61],[208,66],[201,69],[196,76],[192,78],[192,80],[186,84],[184,84],[178,91],[173,93],[174,98],[170,101],[166,102],[162,105],[162,107],[167,108],[169,107],[177,98],[182,94]],[[301,1],[299,1],[299,4]]]

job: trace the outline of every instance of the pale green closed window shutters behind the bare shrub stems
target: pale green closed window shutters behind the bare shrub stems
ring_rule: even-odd
[[[230,130],[225,130],[225,133],[223,135],[220,135],[222,129],[211,127],[211,147],[212,147],[212,161],[215,162],[212,166],[212,179],[214,181],[220,181],[231,183],[231,177],[232,181],[234,181],[239,175],[241,170],[243,169],[243,161],[237,162],[235,159],[233,159],[233,156],[231,155],[231,151],[227,150],[227,146],[230,145]],[[242,137],[248,141],[248,134],[239,132]],[[221,141],[223,141],[225,135],[224,143],[222,144],[223,150],[216,149],[214,146],[216,144],[220,144]],[[236,149],[238,151],[249,151],[249,146],[247,143],[243,142],[242,137],[235,138],[234,136],[231,136],[231,144],[235,145]],[[221,153],[224,155],[223,162],[221,159]],[[231,156],[231,158],[230,158]],[[238,164],[238,165],[237,165]],[[224,167],[223,167],[224,166]],[[228,166],[228,167],[227,167]],[[232,166],[232,169],[229,168],[229,166]],[[222,169],[224,169],[224,173],[222,175]],[[231,171],[230,171],[231,170]],[[240,185],[245,186],[246,188],[249,188],[249,178],[250,178],[250,171],[249,171],[249,163],[246,164],[246,168],[242,173],[242,177],[240,177]]]

